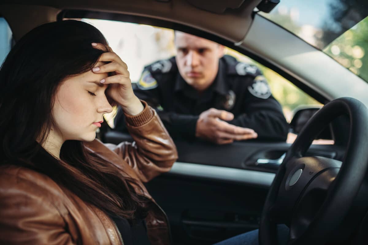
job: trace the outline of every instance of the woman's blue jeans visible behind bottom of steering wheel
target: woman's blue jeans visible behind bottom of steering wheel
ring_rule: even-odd
[[[277,225],[277,238],[278,245],[286,245],[289,240],[289,228],[283,224]],[[258,230],[248,231],[214,245],[258,245]]]

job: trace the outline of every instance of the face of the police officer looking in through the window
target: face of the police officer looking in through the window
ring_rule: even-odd
[[[175,32],[176,63],[185,82],[196,90],[207,89],[219,70],[224,47],[210,40]]]

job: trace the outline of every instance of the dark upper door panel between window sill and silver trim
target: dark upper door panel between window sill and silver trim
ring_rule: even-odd
[[[118,144],[132,141],[129,134],[109,131],[104,141]],[[257,165],[257,160],[279,159],[291,144],[285,142],[237,141],[227,145],[215,145],[205,141],[174,140],[179,153],[179,162],[198,163],[276,173],[277,168]],[[306,156],[324,156],[341,161],[345,146],[311,145]]]

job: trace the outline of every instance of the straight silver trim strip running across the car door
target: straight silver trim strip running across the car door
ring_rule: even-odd
[[[261,187],[270,187],[273,179],[275,178],[274,173],[258,172],[245,169],[233,169],[230,167],[200,165],[187,162],[175,162],[170,172],[166,174],[231,181],[243,184],[257,185]]]

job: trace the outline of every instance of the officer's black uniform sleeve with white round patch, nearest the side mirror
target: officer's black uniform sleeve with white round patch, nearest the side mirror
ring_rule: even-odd
[[[245,87],[243,113],[229,123],[253,129],[260,140],[286,141],[289,125],[263,76]]]

